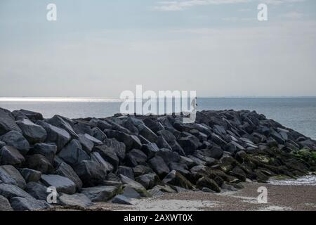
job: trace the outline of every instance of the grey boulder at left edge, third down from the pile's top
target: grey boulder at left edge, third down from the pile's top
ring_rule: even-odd
[[[25,158],[14,147],[4,146],[0,149],[0,165],[20,166],[25,162]]]

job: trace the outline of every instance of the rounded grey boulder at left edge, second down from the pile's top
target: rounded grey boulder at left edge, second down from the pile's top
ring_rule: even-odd
[[[0,137],[0,141],[4,141],[8,146],[18,149],[22,155],[26,155],[29,151],[29,142],[18,131],[10,131]]]

